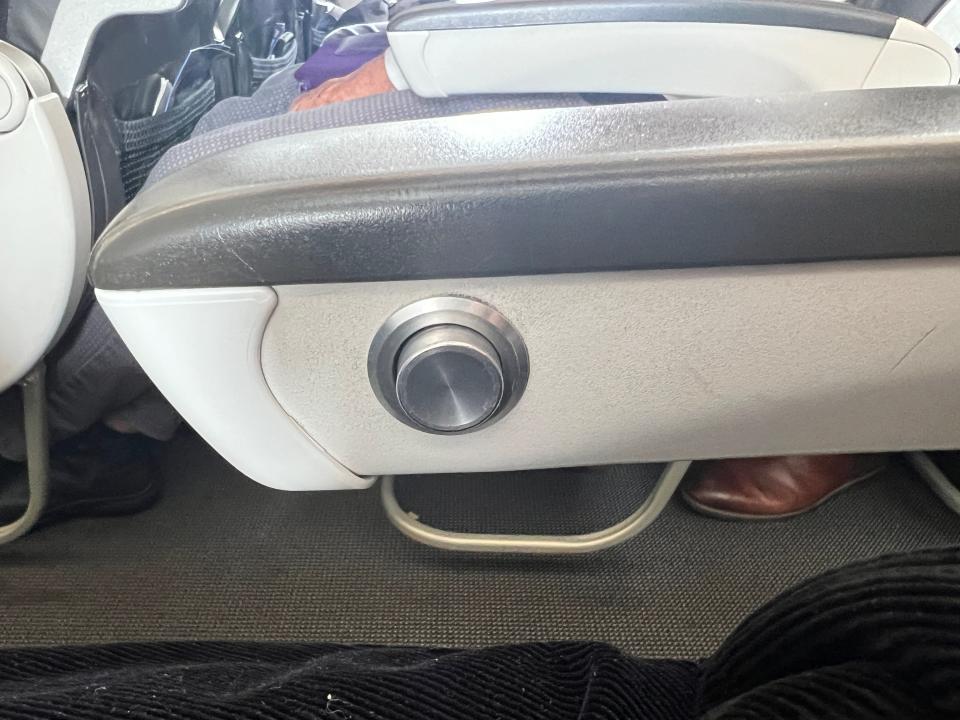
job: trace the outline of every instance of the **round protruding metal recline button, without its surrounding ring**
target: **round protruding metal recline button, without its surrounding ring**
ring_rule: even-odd
[[[493,345],[459,325],[421,330],[397,358],[400,406],[417,425],[441,433],[488,420],[503,399],[503,369]]]

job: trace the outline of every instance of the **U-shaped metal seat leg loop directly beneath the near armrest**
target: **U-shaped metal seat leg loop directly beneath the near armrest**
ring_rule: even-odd
[[[575,555],[606,550],[644,530],[667,506],[689,468],[690,462],[686,460],[670,463],[636,512],[605,530],[584,535],[488,535],[440,530],[420,522],[400,507],[392,476],[380,481],[380,497],[390,522],[404,535],[424,545],[474,553]]]

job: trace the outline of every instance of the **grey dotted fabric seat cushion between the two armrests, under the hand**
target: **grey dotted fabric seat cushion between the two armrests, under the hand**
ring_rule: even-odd
[[[472,95],[421,98],[410,91],[385,93],[302,112],[288,112],[300,89],[289,68],[263,83],[251,97],[218,103],[192,137],[168,151],[146,187],[198,160],[260,140],[350,125],[419,120],[496,110],[576,107],[579,95]]]

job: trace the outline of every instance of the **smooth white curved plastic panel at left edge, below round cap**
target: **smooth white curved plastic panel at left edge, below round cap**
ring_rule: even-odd
[[[0,390],[19,381],[73,316],[90,253],[80,150],[60,98],[26,105],[0,133]]]

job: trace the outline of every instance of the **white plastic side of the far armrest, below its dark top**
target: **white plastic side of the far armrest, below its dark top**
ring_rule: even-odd
[[[956,81],[953,53],[907,20],[909,65],[873,77],[885,38],[723,23],[585,23],[390,33],[387,70],[426,97],[615,92],[713,97],[925,86]],[[919,52],[914,45],[922,45]],[[898,48],[897,58],[906,54]],[[952,59],[951,59],[952,58]],[[891,58],[893,62],[893,58]],[[953,63],[952,73],[949,63]],[[947,72],[945,73],[945,69]]]

